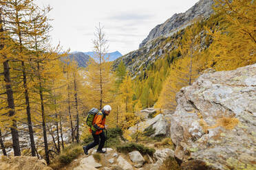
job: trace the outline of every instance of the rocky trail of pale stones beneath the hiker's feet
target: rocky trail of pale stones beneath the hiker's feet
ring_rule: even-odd
[[[152,157],[148,154],[142,156],[139,151],[120,154],[112,148],[107,148],[107,154],[96,154],[96,149],[91,149],[88,156],[81,155],[61,170],[158,169],[168,156],[174,158],[174,151],[168,148],[157,150]]]

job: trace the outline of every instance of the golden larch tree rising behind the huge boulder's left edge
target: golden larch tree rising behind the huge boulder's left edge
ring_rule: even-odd
[[[164,82],[157,106],[175,110],[175,94],[184,86],[189,86],[200,75],[201,69],[207,64],[207,58],[199,52],[200,36],[196,28],[186,29],[179,46],[182,56],[175,60],[169,69],[169,77]]]

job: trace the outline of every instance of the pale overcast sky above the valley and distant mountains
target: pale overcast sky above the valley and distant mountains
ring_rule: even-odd
[[[92,51],[95,27],[100,22],[109,40],[109,52],[122,55],[138,49],[151,29],[173,14],[185,12],[198,0],[35,0],[50,5],[53,45]]]

